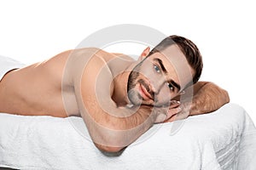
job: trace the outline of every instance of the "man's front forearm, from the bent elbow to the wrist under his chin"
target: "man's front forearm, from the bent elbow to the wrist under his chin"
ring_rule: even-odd
[[[131,116],[125,116],[125,114],[130,115],[127,112],[130,112],[131,109],[117,109],[123,113],[121,114],[123,116],[112,116],[105,113],[105,118],[102,118],[102,122],[92,123],[94,126],[90,128],[90,136],[99,150],[108,152],[122,150],[154,124],[155,114],[152,113],[152,109],[148,106],[141,106]],[[99,123],[104,125],[98,127]]]

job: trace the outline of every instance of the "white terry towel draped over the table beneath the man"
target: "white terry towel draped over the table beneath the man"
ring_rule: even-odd
[[[79,117],[0,114],[0,167],[18,169],[255,169],[256,130],[239,105],[154,125],[119,156],[91,143]],[[83,132],[83,133],[81,133]]]

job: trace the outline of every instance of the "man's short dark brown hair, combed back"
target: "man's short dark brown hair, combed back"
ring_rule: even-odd
[[[196,47],[195,43],[190,41],[188,38],[176,35],[166,37],[150,51],[148,56],[156,52],[161,52],[172,44],[177,44],[178,48],[180,48],[180,50],[183,52],[186,59],[188,60],[189,65],[195,70],[195,75],[192,82],[198,82],[199,78],[201,77],[201,71],[203,68],[201,53]],[[189,82],[188,85],[191,85],[192,82]]]

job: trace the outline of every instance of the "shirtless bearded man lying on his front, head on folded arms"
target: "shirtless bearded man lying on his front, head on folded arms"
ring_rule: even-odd
[[[109,152],[122,150],[154,123],[215,111],[229,102],[224,89],[197,82],[201,54],[178,36],[166,37],[151,52],[146,48],[138,60],[81,48],[14,69],[0,82],[0,112],[82,116],[96,147]]]

